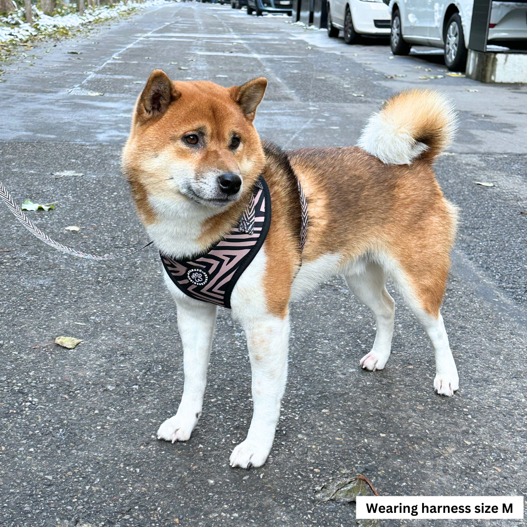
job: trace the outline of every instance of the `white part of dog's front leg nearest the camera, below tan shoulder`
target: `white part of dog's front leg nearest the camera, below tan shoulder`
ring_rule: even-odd
[[[266,315],[242,320],[242,324],[251,362],[254,409],[247,438],[232,451],[230,464],[249,469],[266,462],[275,438],[287,378],[289,316]]]

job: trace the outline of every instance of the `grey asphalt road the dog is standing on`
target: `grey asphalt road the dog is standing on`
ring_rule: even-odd
[[[360,370],[373,318],[331,280],[292,307],[287,391],[265,466],[228,464],[251,401],[245,339],[227,310],[197,429],[187,443],[157,441],[183,374],[155,249],[109,262],[64,256],[0,205],[3,526],[345,527],[354,506],[317,503],[314,489],[357,472],[382,495],[527,494],[527,87],[450,77],[426,50],[390,58],[383,42],[346,46],[289,21],[167,4],[34,48],[42,59],[3,66],[0,178],[19,203],[58,201],[28,213],[48,235],[118,252],[146,240],[119,155],[156,67],[223,85],[266,76],[256,126],[285,148],[354,144],[389,94],[444,90],[460,111],[460,134],[436,167],[461,212],[442,308],[460,391],[434,394],[431,345],[395,294],[392,357],[382,372]],[[83,175],[56,175],[66,170]],[[72,225],[81,230],[64,230]],[[60,335],[83,341],[34,347]]]

